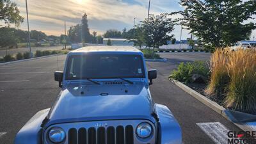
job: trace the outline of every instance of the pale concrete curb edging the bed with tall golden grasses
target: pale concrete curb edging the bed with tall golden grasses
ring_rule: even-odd
[[[223,112],[225,110],[225,108],[223,108],[223,106],[220,106],[216,102],[208,99],[204,95],[201,95],[200,93],[196,92],[192,88],[189,88],[188,86],[186,86],[186,84],[183,84],[183,83],[181,83],[179,81],[176,81],[176,80],[173,80],[173,79],[170,79],[170,81],[172,81],[172,83],[174,83],[175,85],[179,86],[179,88],[181,88],[185,92],[189,93],[189,95],[195,97],[195,99],[197,99],[200,102],[202,102],[203,104],[205,104],[205,106],[208,106],[209,108],[211,108],[212,110],[216,111],[218,114],[220,114],[221,116],[227,118],[227,120],[230,121],[228,116]],[[242,129],[243,131],[255,131],[254,129],[252,129],[251,127],[248,127],[246,125],[238,124],[238,123],[234,123],[234,122],[232,122],[232,123],[237,125],[237,127]]]

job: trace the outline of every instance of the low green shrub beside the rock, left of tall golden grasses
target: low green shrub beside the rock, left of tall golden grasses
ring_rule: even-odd
[[[170,78],[177,81],[191,83],[193,74],[199,74],[204,77],[209,76],[209,69],[203,61],[194,61],[193,63],[180,63],[177,70],[173,70]]]

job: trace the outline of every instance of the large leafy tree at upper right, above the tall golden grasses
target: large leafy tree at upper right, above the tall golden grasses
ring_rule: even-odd
[[[184,12],[171,15],[179,13],[183,17],[175,21],[212,47],[245,40],[256,28],[255,22],[244,22],[256,14],[255,0],[180,0],[180,4],[185,8]]]

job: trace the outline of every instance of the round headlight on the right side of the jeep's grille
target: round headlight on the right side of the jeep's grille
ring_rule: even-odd
[[[142,122],[138,125],[136,133],[140,138],[148,138],[152,133],[152,127],[147,122]]]

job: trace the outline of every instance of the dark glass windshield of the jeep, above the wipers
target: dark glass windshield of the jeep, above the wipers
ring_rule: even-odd
[[[145,78],[145,70],[140,55],[84,54],[69,56],[65,78]]]

